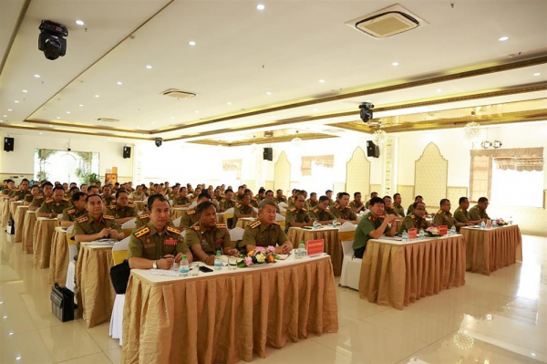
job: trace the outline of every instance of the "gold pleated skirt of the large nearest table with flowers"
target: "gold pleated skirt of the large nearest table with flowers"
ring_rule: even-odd
[[[235,363],[338,330],[330,259],[152,283],[131,274],[122,363]],[[290,360],[286,361],[287,363]]]

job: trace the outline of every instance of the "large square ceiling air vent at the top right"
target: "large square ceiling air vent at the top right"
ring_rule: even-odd
[[[419,26],[427,26],[428,23],[397,4],[378,10],[376,13],[359,16],[346,22],[346,25],[366,33],[368,36],[385,38]]]

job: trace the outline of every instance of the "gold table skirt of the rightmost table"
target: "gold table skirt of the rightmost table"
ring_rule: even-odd
[[[518,225],[494,229],[461,229],[467,244],[467,270],[490,276],[504,266],[522,261],[522,236]]]

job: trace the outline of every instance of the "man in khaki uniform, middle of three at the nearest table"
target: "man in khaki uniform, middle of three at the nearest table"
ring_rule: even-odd
[[[200,203],[196,209],[199,221],[186,230],[186,244],[191,249],[196,261],[214,265],[217,250],[222,255],[239,255],[233,246],[226,224],[217,224],[214,204],[209,201]]]

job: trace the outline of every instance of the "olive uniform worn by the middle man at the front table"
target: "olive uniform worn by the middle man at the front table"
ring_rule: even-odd
[[[190,248],[200,244],[201,250],[207,255],[215,255],[217,250],[222,252],[222,249],[233,247],[226,224],[216,224],[209,230],[205,229],[201,223],[193,224],[184,237]]]

